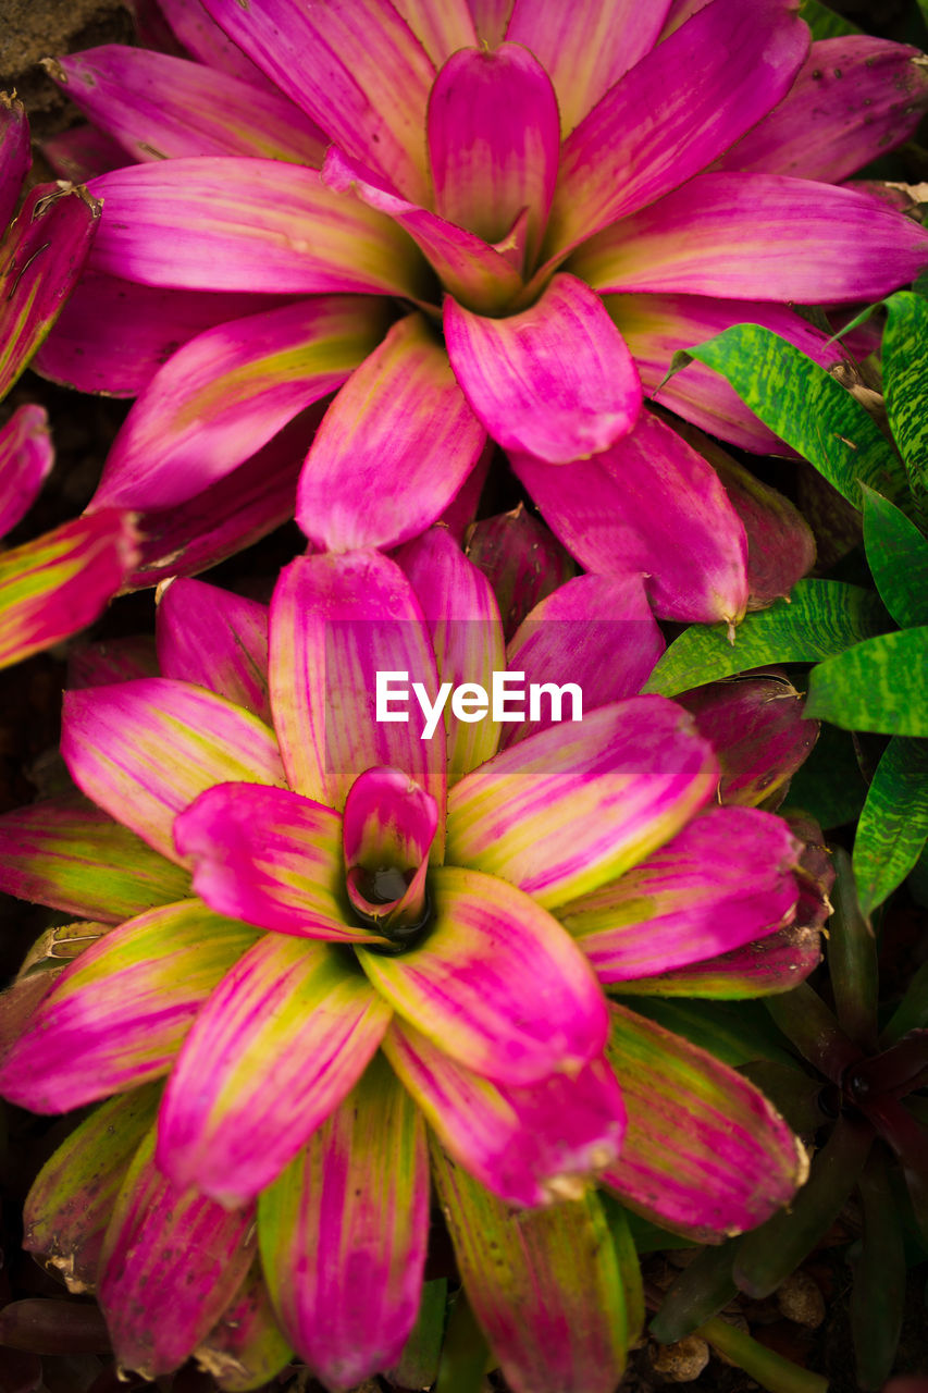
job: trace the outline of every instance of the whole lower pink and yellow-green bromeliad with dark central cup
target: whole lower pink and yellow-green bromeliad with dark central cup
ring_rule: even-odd
[[[0,1088],[49,1113],[114,1095],[36,1181],[26,1243],[96,1289],[121,1364],[196,1351],[230,1389],[291,1348],[332,1387],[389,1368],[431,1145],[510,1385],[609,1393],[637,1269],[588,1183],[709,1241],[790,1198],[804,1155],[764,1096],[602,993],[755,995],[818,961],[801,843],[718,805],[759,801],[814,726],[772,717],[738,783],[729,696],[697,724],[634,695],[662,648],[641,578],[587,575],[506,653],[438,528],[396,560],[301,557],[269,612],[173,582],[162,676],[85,655],[63,754],[91,801],[0,819],[3,887],[84,919],[52,931],[75,960],[6,999]],[[433,702],[507,666],[567,669],[582,722],[375,719],[378,671]]]

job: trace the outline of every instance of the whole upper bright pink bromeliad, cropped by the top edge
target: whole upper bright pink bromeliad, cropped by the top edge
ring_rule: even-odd
[[[42,368],[139,393],[95,500],[171,552],[139,582],[288,515],[301,412],[337,390],[297,489],[315,547],[415,536],[489,440],[587,570],[737,621],[741,521],[642,393],[740,320],[833,362],[784,302],[879,297],[928,262],[928,231],[836,187],[914,128],[915,50],[810,46],[796,0],[159,3],[171,53],[50,64],[100,132],[68,157],[109,173]],[[778,444],[706,369],[660,400]]]

